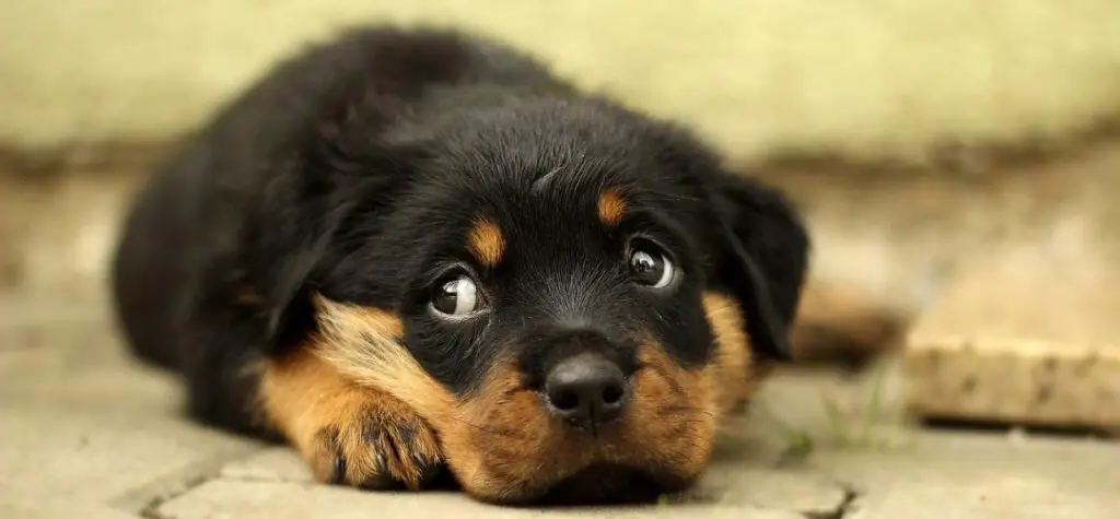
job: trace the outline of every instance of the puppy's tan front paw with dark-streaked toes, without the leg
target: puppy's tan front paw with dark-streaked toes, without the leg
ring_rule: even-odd
[[[368,490],[422,490],[444,470],[436,434],[390,398],[368,396],[357,413],[333,414],[305,452],[319,481]]]

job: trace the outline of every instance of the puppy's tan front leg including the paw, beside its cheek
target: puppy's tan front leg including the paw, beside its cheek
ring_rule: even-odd
[[[308,348],[269,361],[260,389],[269,419],[319,481],[418,490],[442,469],[435,432],[410,407]]]

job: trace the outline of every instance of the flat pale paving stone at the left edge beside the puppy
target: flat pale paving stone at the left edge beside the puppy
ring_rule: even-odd
[[[40,311],[0,321],[0,498],[142,501],[156,482],[260,449],[183,421],[174,378],[129,359],[101,315]]]

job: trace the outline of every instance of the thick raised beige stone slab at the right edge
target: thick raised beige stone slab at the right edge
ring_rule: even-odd
[[[907,407],[1120,433],[1120,279],[1040,258],[962,272],[911,332]]]

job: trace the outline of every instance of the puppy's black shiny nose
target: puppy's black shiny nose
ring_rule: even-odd
[[[626,377],[614,362],[579,355],[556,365],[544,379],[549,411],[592,432],[617,418],[626,403]]]

